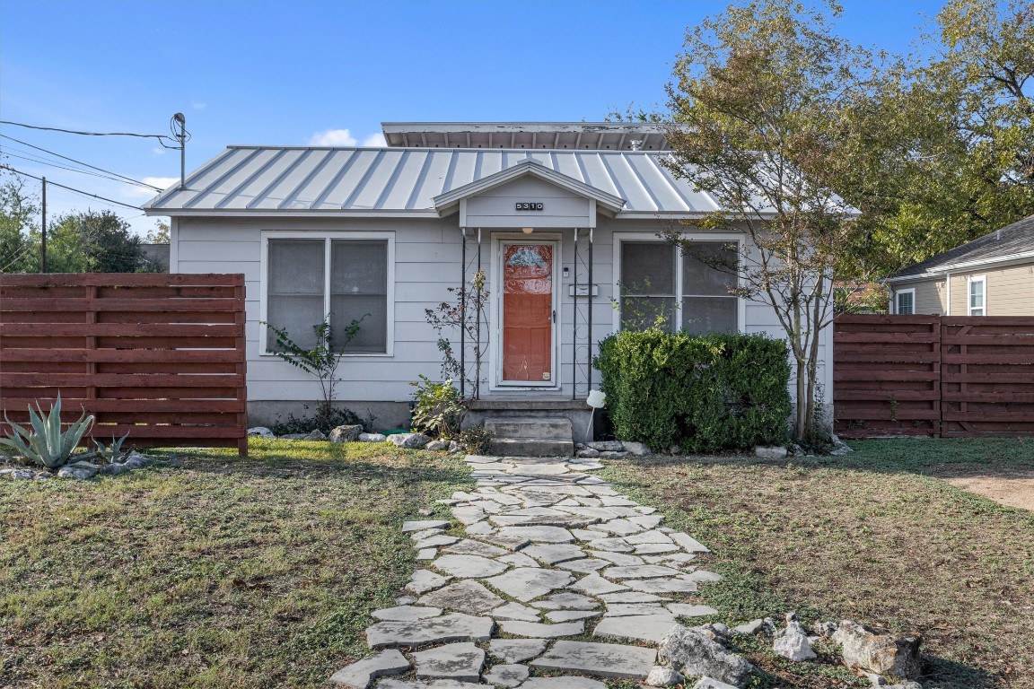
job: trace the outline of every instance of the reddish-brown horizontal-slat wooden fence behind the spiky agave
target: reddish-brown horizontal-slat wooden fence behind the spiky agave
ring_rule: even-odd
[[[244,323],[243,275],[0,275],[0,407],[22,424],[60,392],[98,440],[245,456]]]

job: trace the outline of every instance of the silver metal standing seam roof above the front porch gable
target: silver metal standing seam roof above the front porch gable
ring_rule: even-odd
[[[433,198],[523,160],[626,200],[618,214],[720,210],[650,151],[232,146],[144,205],[153,215],[436,215]]]

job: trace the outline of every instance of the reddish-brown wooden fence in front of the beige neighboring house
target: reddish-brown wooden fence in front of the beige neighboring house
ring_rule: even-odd
[[[837,433],[1034,435],[1034,318],[842,315]]]

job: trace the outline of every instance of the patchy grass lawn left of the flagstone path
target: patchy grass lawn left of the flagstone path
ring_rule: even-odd
[[[458,459],[252,440],[90,481],[0,481],[0,686],[323,687],[367,653]],[[434,512],[447,516],[438,506]]]

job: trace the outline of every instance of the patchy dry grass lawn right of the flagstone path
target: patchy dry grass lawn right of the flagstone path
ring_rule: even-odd
[[[716,556],[731,622],[797,610],[922,633],[925,689],[1034,688],[1034,513],[935,474],[1034,470],[1034,439],[852,441],[843,458],[612,462],[601,474]],[[762,686],[841,686],[746,648]],[[803,672],[803,674],[801,674]]]

